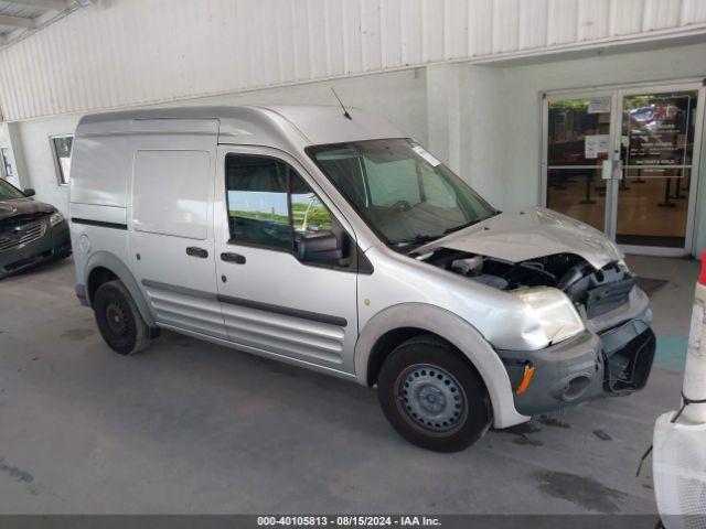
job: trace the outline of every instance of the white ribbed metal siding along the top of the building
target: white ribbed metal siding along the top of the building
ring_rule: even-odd
[[[110,0],[0,50],[6,120],[703,32],[705,0]]]

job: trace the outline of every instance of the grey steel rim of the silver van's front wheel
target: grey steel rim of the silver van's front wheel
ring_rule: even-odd
[[[415,364],[407,367],[397,377],[395,396],[407,422],[429,433],[454,432],[468,417],[463,387],[439,366]]]

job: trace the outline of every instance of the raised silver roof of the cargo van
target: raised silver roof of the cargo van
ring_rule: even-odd
[[[340,106],[322,105],[143,108],[84,116],[76,136],[149,133],[148,123],[135,127],[135,121],[143,120],[159,120],[154,133],[203,133],[203,120],[217,120],[220,141],[228,142],[231,137],[249,144],[307,145],[408,136],[375,114],[359,108],[347,111],[351,119]]]

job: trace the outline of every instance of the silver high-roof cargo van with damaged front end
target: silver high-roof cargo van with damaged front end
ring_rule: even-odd
[[[501,213],[384,119],[339,107],[84,117],[76,295],[117,353],[160,328],[377,386],[408,441],[644,387],[646,295],[599,231]]]

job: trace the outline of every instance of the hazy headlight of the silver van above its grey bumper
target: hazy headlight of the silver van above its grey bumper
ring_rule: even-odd
[[[586,328],[571,301],[560,290],[537,287],[512,293],[534,312],[547,345],[576,336]]]

